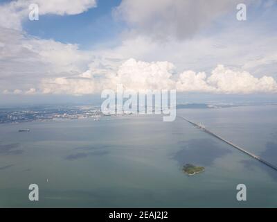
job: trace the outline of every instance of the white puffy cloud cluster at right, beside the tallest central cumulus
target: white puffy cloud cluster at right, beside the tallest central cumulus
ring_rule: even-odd
[[[211,76],[185,71],[179,76],[177,89],[180,92],[213,92],[222,94],[276,93],[277,83],[270,76],[256,78],[247,71],[233,71],[217,65]]]

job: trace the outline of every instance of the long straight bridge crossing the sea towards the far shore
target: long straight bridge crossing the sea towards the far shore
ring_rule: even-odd
[[[177,116],[178,117],[178,116]],[[241,148],[240,146],[237,146],[235,144],[233,144],[232,142],[229,142],[228,140],[220,137],[219,135],[211,132],[211,130],[208,130],[207,128],[205,128],[204,125],[200,124],[200,123],[194,123],[193,121],[190,121],[184,117],[178,117],[180,119],[183,119],[184,121],[187,121],[188,123],[192,124],[193,126],[196,126],[199,129],[202,129],[204,132],[208,133],[209,135],[212,135],[213,137],[216,137],[217,139],[220,139],[222,142],[225,142],[226,144],[229,144],[230,146],[233,146],[234,148],[238,149],[239,151],[241,151],[242,153],[245,153],[247,155],[249,155],[250,157],[262,162],[262,164],[267,165],[267,167],[270,167],[271,169],[274,169],[277,171],[277,167],[275,167],[273,164],[271,164],[270,162],[267,162],[266,160],[263,160],[261,157],[259,157],[258,155],[254,155],[253,153],[250,153],[249,151],[244,150],[244,148]]]

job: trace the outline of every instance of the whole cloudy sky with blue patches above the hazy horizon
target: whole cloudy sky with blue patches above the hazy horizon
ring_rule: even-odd
[[[276,0],[0,0],[0,103],[87,101],[118,84],[272,99],[276,21]]]

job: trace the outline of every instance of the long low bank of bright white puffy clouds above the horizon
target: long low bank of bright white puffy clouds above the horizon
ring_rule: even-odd
[[[218,65],[207,76],[204,72],[184,71],[176,74],[170,62],[141,62],[129,59],[117,70],[96,76],[85,71],[76,78],[45,78],[42,92],[46,94],[96,94],[103,89],[177,89],[177,92],[208,92],[220,94],[276,93],[277,83],[270,76],[256,78],[247,71],[234,71]]]

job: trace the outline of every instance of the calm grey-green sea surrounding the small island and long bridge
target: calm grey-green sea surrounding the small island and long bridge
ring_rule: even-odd
[[[277,106],[177,112],[277,165]],[[277,171],[181,119],[161,118],[0,125],[0,207],[277,206]],[[187,176],[186,163],[206,171]],[[28,200],[33,183],[38,202]],[[236,200],[240,183],[247,201]]]

